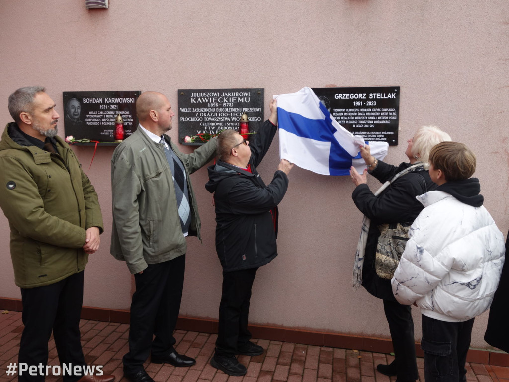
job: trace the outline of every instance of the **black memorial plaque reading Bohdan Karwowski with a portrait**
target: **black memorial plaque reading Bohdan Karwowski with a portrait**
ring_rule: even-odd
[[[113,145],[115,118],[120,114],[126,139],[138,126],[135,104],[140,93],[139,90],[63,92],[66,137]]]

